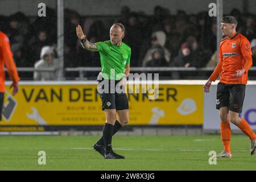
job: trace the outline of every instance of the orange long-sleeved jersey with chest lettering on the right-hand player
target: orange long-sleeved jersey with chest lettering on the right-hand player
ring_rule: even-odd
[[[215,81],[221,73],[220,82],[225,84],[247,84],[247,69],[241,77],[234,77],[238,70],[245,68],[246,61],[251,61],[250,42],[235,32],[231,38],[225,37],[220,42],[220,61],[210,76]],[[249,69],[249,68],[248,68]]]

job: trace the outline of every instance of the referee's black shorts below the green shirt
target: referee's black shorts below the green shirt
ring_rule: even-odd
[[[109,80],[105,80],[104,84],[109,84],[109,88],[105,89],[103,81],[98,83],[98,94],[101,97],[102,110],[105,109],[115,109],[115,110],[125,110],[129,109],[128,99],[125,93],[125,89],[122,86],[117,86],[120,80],[112,80],[113,84],[110,84]],[[103,85],[102,85],[103,84]],[[111,85],[111,86],[110,86]],[[115,88],[119,88],[119,91]],[[122,90],[123,92],[120,92]]]

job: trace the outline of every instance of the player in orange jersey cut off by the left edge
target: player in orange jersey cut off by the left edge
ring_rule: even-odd
[[[13,96],[19,91],[19,76],[16,69],[16,65],[13,60],[13,53],[10,49],[10,42],[6,34],[0,31],[0,121],[2,120],[3,110],[3,96],[5,93],[5,70],[4,65],[7,68],[9,77],[13,81],[11,87],[13,87]]]

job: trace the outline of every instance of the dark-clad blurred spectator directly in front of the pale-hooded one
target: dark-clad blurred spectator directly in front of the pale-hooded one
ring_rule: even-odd
[[[164,58],[164,49],[156,48],[152,53],[152,59],[146,63],[146,67],[168,67],[168,62]]]

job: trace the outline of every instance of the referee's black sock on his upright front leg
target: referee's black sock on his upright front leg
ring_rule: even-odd
[[[107,154],[112,151],[113,129],[114,129],[114,125],[105,123],[104,129],[103,129],[103,138],[104,138],[104,144],[106,147]]]

